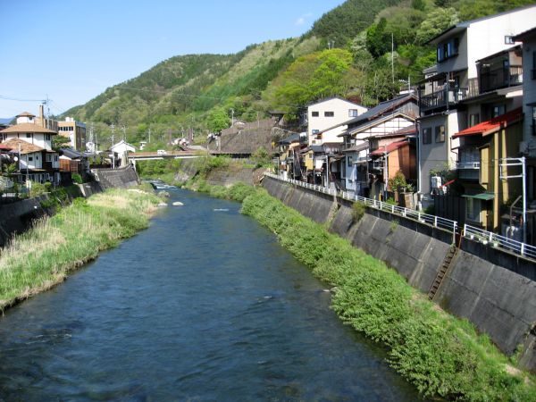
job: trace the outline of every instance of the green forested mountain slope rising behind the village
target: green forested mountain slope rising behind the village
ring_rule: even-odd
[[[102,144],[112,123],[125,126],[132,142],[147,138],[149,129],[153,141],[188,130],[201,140],[228,127],[231,113],[255,121],[276,109],[292,119],[301,106],[332,95],[372,106],[407,80],[422,79],[423,68],[435,63],[430,38],[458,21],[524,4],[532,1],[348,0],[302,38],[247,46],[238,54],[175,56],[64,115],[93,124]]]

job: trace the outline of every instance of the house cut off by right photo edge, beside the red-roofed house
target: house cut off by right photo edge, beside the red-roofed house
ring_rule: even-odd
[[[533,205],[536,200],[536,28],[524,31],[514,40],[523,42],[523,141],[519,151],[526,158],[527,198]]]

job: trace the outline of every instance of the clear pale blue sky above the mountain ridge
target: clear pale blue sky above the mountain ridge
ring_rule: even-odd
[[[0,0],[0,118],[82,105],[180,54],[298,37],[344,0]]]

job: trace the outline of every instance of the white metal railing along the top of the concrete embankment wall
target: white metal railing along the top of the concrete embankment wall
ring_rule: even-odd
[[[440,228],[443,230],[448,230],[452,233],[453,243],[456,240],[456,234],[460,233],[466,239],[473,239],[476,241],[482,242],[482,244],[489,247],[502,248],[516,255],[522,255],[527,258],[536,260],[536,247],[522,243],[514,239],[508,239],[507,237],[501,236],[497,233],[491,231],[482,230],[480,228],[475,228],[473,226],[464,224],[460,227],[459,223],[452,221],[450,219],[441,218],[440,216],[424,214],[413,209],[408,209],[403,206],[391,205],[382,201],[378,201],[372,198],[366,198],[361,196],[356,196],[350,194],[346,191],[337,191],[335,188],[325,188],[316,184],[306,183],[304,181],[293,180],[293,179],[283,179],[281,176],[276,174],[266,172],[266,176],[272,177],[273,179],[286,181],[291,184],[303,187],[310,188],[314,191],[319,191],[324,194],[330,194],[332,196],[339,196],[348,201],[358,201],[364,203],[364,205],[370,206],[375,209],[387,212],[389,214],[394,214],[398,216],[403,216],[405,218],[413,219],[418,222],[429,224],[435,228]]]

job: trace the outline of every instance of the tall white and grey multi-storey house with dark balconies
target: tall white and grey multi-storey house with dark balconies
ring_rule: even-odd
[[[511,65],[517,63],[514,37],[532,28],[534,21],[536,5],[528,5],[461,22],[429,42],[436,46],[437,66],[427,71],[419,90],[418,189],[423,205],[432,201],[431,172],[446,172],[456,166],[452,137],[479,121],[508,112],[505,99],[515,92],[519,95],[514,88],[519,80],[518,66]],[[487,59],[490,54],[495,60]],[[431,70],[436,73],[430,74]],[[507,89],[498,93],[501,88]],[[472,109],[468,99],[474,96],[481,98],[473,102]],[[475,112],[479,108],[481,111]],[[438,182],[434,180],[434,185]]]

